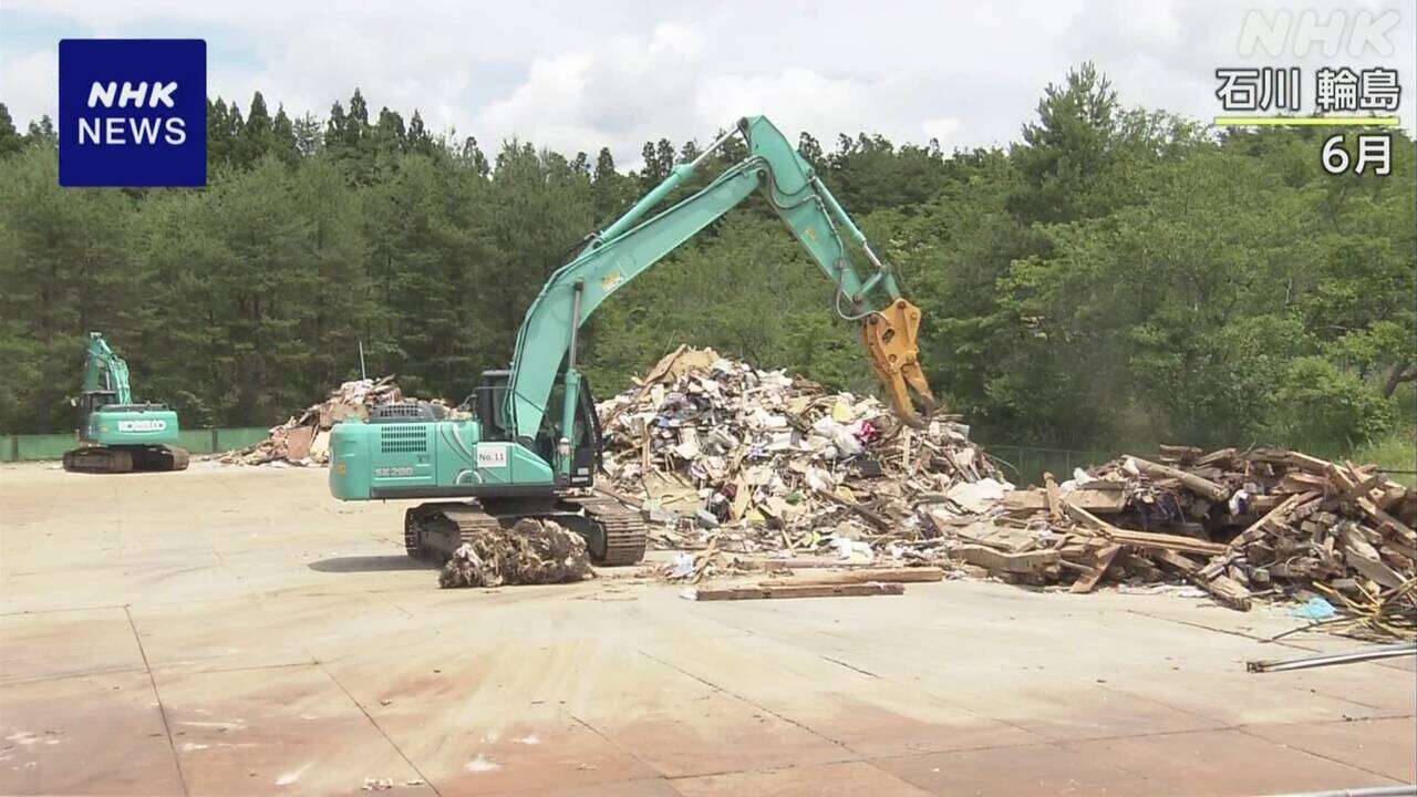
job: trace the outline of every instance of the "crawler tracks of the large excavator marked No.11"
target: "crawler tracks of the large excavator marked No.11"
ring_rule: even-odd
[[[404,550],[414,559],[448,559],[462,543],[521,518],[555,520],[580,532],[595,564],[635,564],[645,557],[645,522],[611,498],[565,498],[541,511],[496,515],[475,502],[424,503],[404,512]]]

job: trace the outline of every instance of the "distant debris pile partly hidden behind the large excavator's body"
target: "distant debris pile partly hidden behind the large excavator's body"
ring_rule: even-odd
[[[218,457],[231,465],[324,465],[330,461],[330,427],[346,420],[368,420],[380,404],[402,403],[404,391],[393,376],[356,379],[332,390],[329,398],[271,428],[271,437]],[[427,401],[446,410],[441,398]]]

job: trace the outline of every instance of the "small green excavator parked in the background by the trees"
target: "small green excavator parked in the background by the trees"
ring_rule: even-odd
[[[166,404],[135,403],[128,363],[99,332],[91,332],[84,362],[84,391],[74,401],[79,447],[64,454],[64,469],[85,474],[181,471],[186,448],[177,448],[177,413]]]

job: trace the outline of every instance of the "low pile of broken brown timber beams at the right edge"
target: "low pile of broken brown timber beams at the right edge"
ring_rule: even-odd
[[[1156,461],[1122,457],[1061,485],[1049,475],[988,518],[930,513],[965,540],[952,556],[1010,580],[1087,591],[1176,576],[1233,608],[1321,597],[1372,631],[1417,628],[1417,492],[1374,465],[1163,445]]]

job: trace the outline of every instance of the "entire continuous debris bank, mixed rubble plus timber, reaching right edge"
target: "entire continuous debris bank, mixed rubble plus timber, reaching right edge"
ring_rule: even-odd
[[[1189,583],[1233,608],[1295,598],[1349,631],[1417,635],[1417,492],[1372,465],[1162,447],[1015,489],[956,418],[911,430],[874,398],[684,347],[598,411],[606,492],[683,552],[672,580],[751,556],[1078,593]]]

